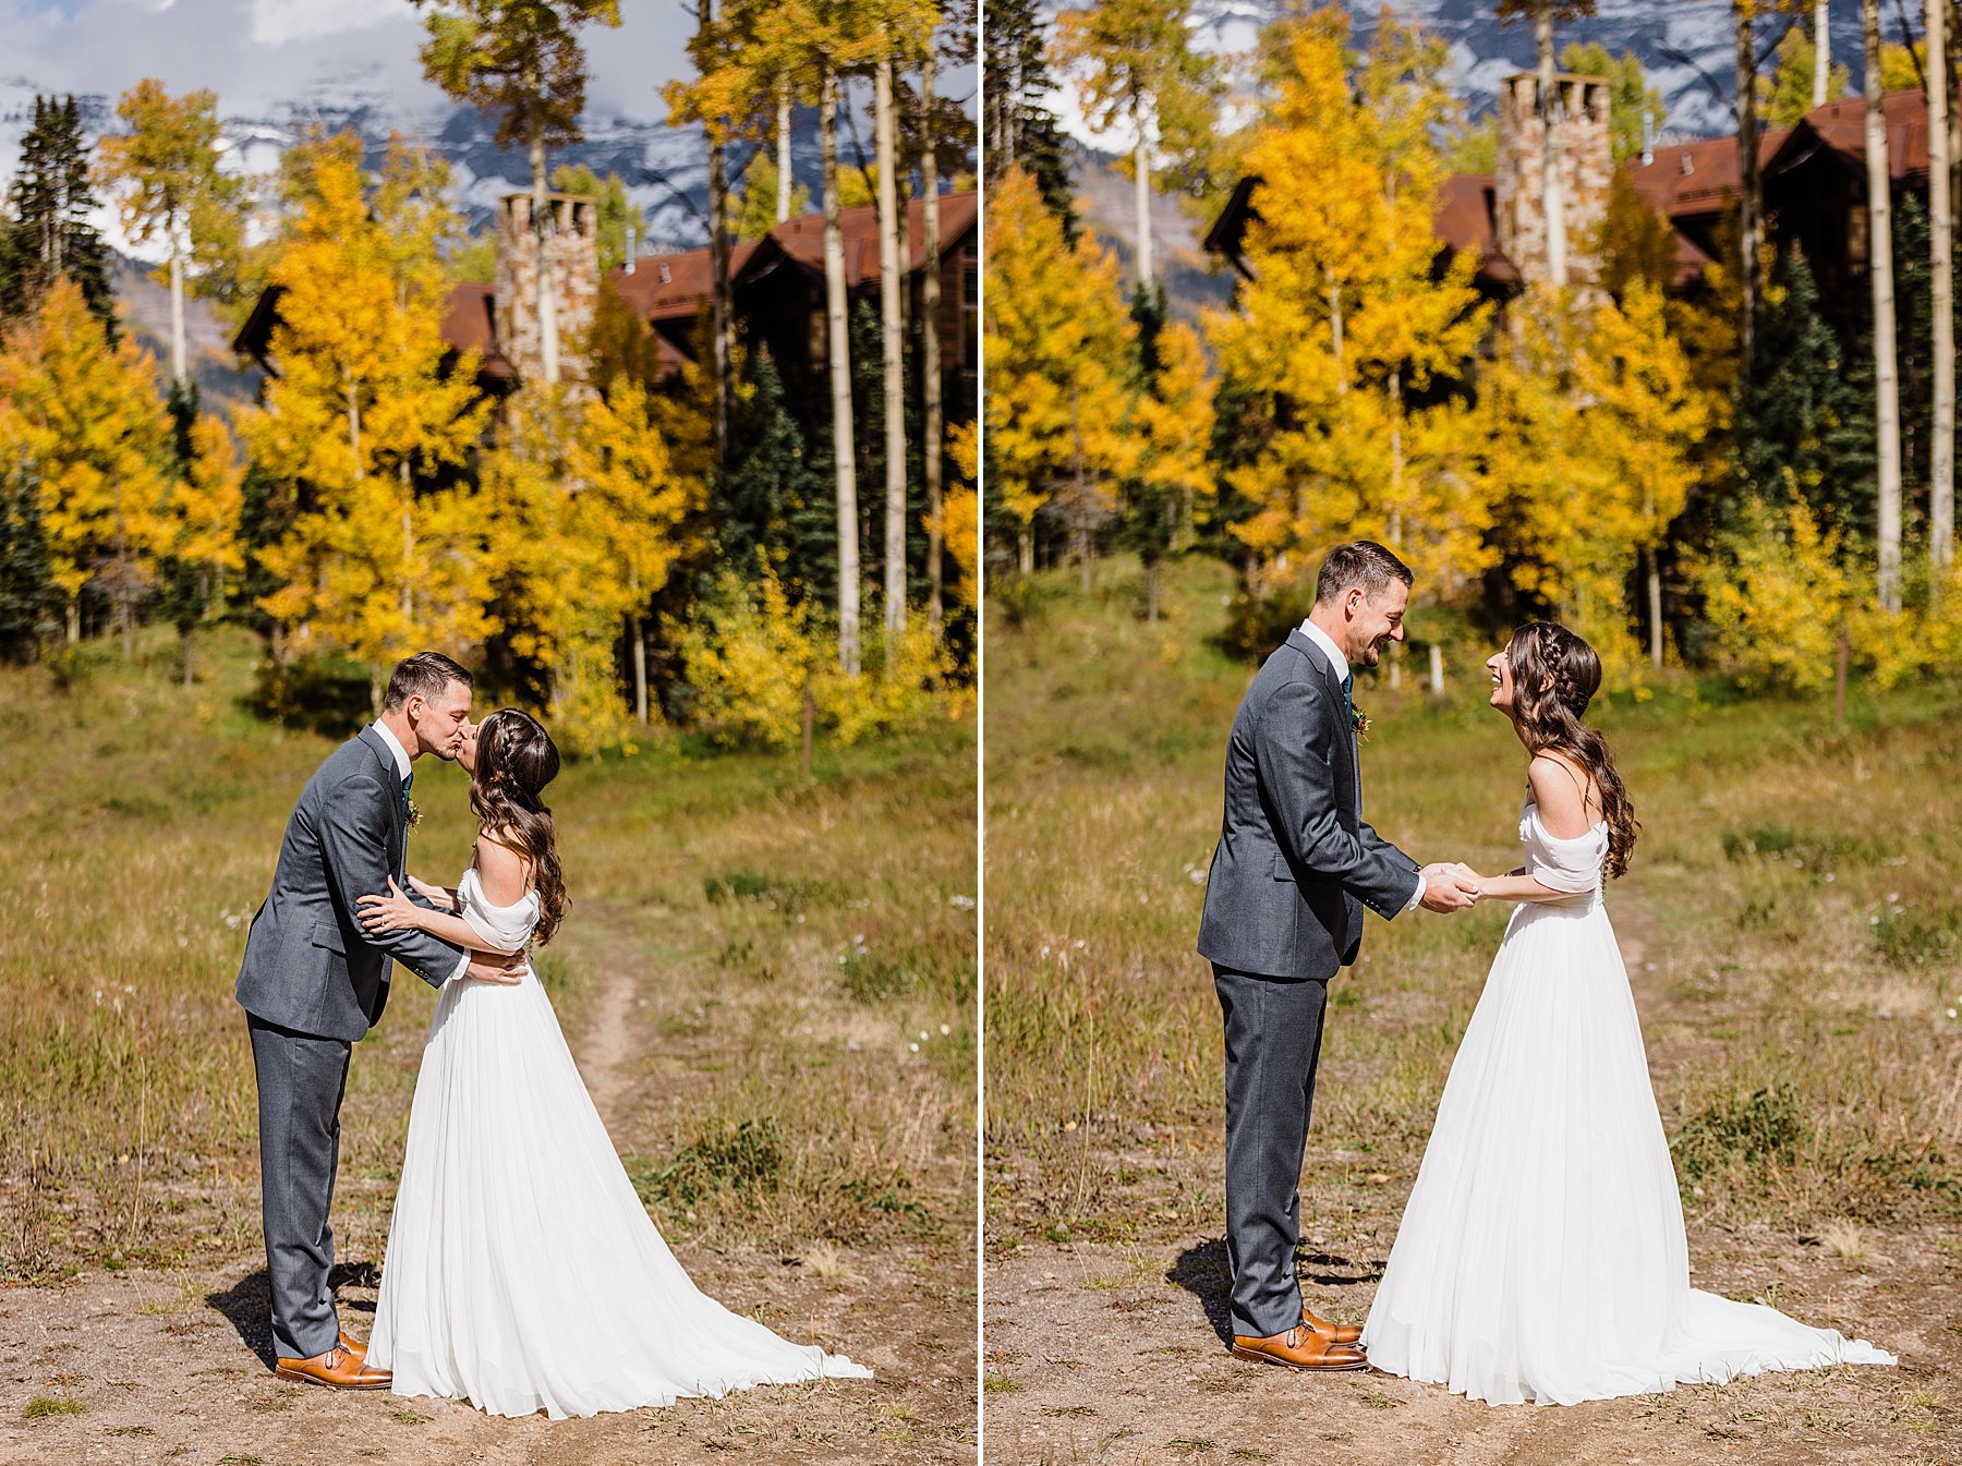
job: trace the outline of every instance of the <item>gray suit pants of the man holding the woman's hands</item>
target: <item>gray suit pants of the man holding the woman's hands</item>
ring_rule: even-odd
[[[1301,1154],[1328,983],[1213,964],[1226,1021],[1226,1258],[1232,1327],[1265,1338],[1301,1323]]]

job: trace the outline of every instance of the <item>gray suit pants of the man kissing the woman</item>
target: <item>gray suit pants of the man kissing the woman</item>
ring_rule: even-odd
[[[245,1015],[259,1073],[259,1191],[273,1346],[281,1358],[326,1354],[341,1325],[328,1291],[334,1266],[334,1172],[341,1158],[345,1038],[316,1038]]]

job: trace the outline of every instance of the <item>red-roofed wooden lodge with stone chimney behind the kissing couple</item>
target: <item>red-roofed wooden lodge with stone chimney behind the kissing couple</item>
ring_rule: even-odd
[[[549,236],[559,304],[561,373],[583,375],[577,343],[593,324],[602,281],[594,202],[551,194],[557,228]],[[920,320],[926,269],[940,273],[942,404],[950,426],[971,422],[979,404],[979,198],[940,196],[940,257],[926,261],[924,200],[906,204],[906,320]],[[879,304],[879,218],[875,206],[840,214],[848,308]],[[532,196],[506,194],[498,210],[496,283],[455,285],[443,310],[443,340],[453,357],[479,351],[477,381],[492,394],[510,393],[538,371],[538,277]],[[830,422],[824,316],[824,216],[787,220],[759,243],[738,243],[730,259],[736,328],[751,347],[767,347],[783,377],[785,400],[808,432]],[[712,277],[708,249],[642,255],[608,271],[606,288],[630,304],[655,334],[663,375],[675,375],[697,351]],[[233,349],[277,375],[273,328],[284,288],[269,287],[233,338]]]

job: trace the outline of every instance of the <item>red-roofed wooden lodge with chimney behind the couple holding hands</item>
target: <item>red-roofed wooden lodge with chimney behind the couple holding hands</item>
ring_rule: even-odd
[[[1589,253],[1613,177],[1607,128],[1609,90],[1597,77],[1562,75],[1562,183],[1568,200],[1570,281],[1587,285]],[[1546,224],[1540,198],[1540,124],[1532,73],[1507,77],[1499,90],[1495,175],[1456,173],[1438,188],[1432,230],[1440,263],[1470,249],[1475,283],[1505,302],[1546,279]],[[1893,196],[1927,196],[1929,112],[1921,90],[1882,98]],[[1840,332],[1864,330],[1870,314],[1866,259],[1866,98],[1848,96],[1811,110],[1795,128],[1758,137],[1766,236],[1781,249],[1797,241],[1819,283],[1821,308]],[[1676,285],[1693,288],[1721,249],[1721,228],[1736,210],[1736,137],[1660,145],[1628,159],[1623,177],[1676,230]],[[1205,249],[1252,279],[1248,226],[1260,218],[1262,179],[1242,179],[1207,232]],[[1734,228],[1734,226],[1732,226]]]

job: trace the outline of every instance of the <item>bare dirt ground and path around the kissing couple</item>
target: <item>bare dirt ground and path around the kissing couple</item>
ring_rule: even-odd
[[[589,915],[591,918],[591,915]],[[600,1115],[618,1128],[644,1095],[636,1058],[642,962],[604,940],[602,987],[575,1040]],[[587,1421],[492,1419],[455,1401],[334,1393],[275,1380],[265,1258],[184,1272],[90,1272],[63,1287],[0,1291],[0,1462],[345,1462],[430,1466],[700,1462],[971,1462],[973,1289],[924,1248],[840,1250],[810,1276],[797,1258],[677,1248],[698,1285],[779,1333],[869,1364],[873,1382],[822,1382],[689,1399]],[[334,1291],[369,1333],[377,1272],[336,1266]]]

